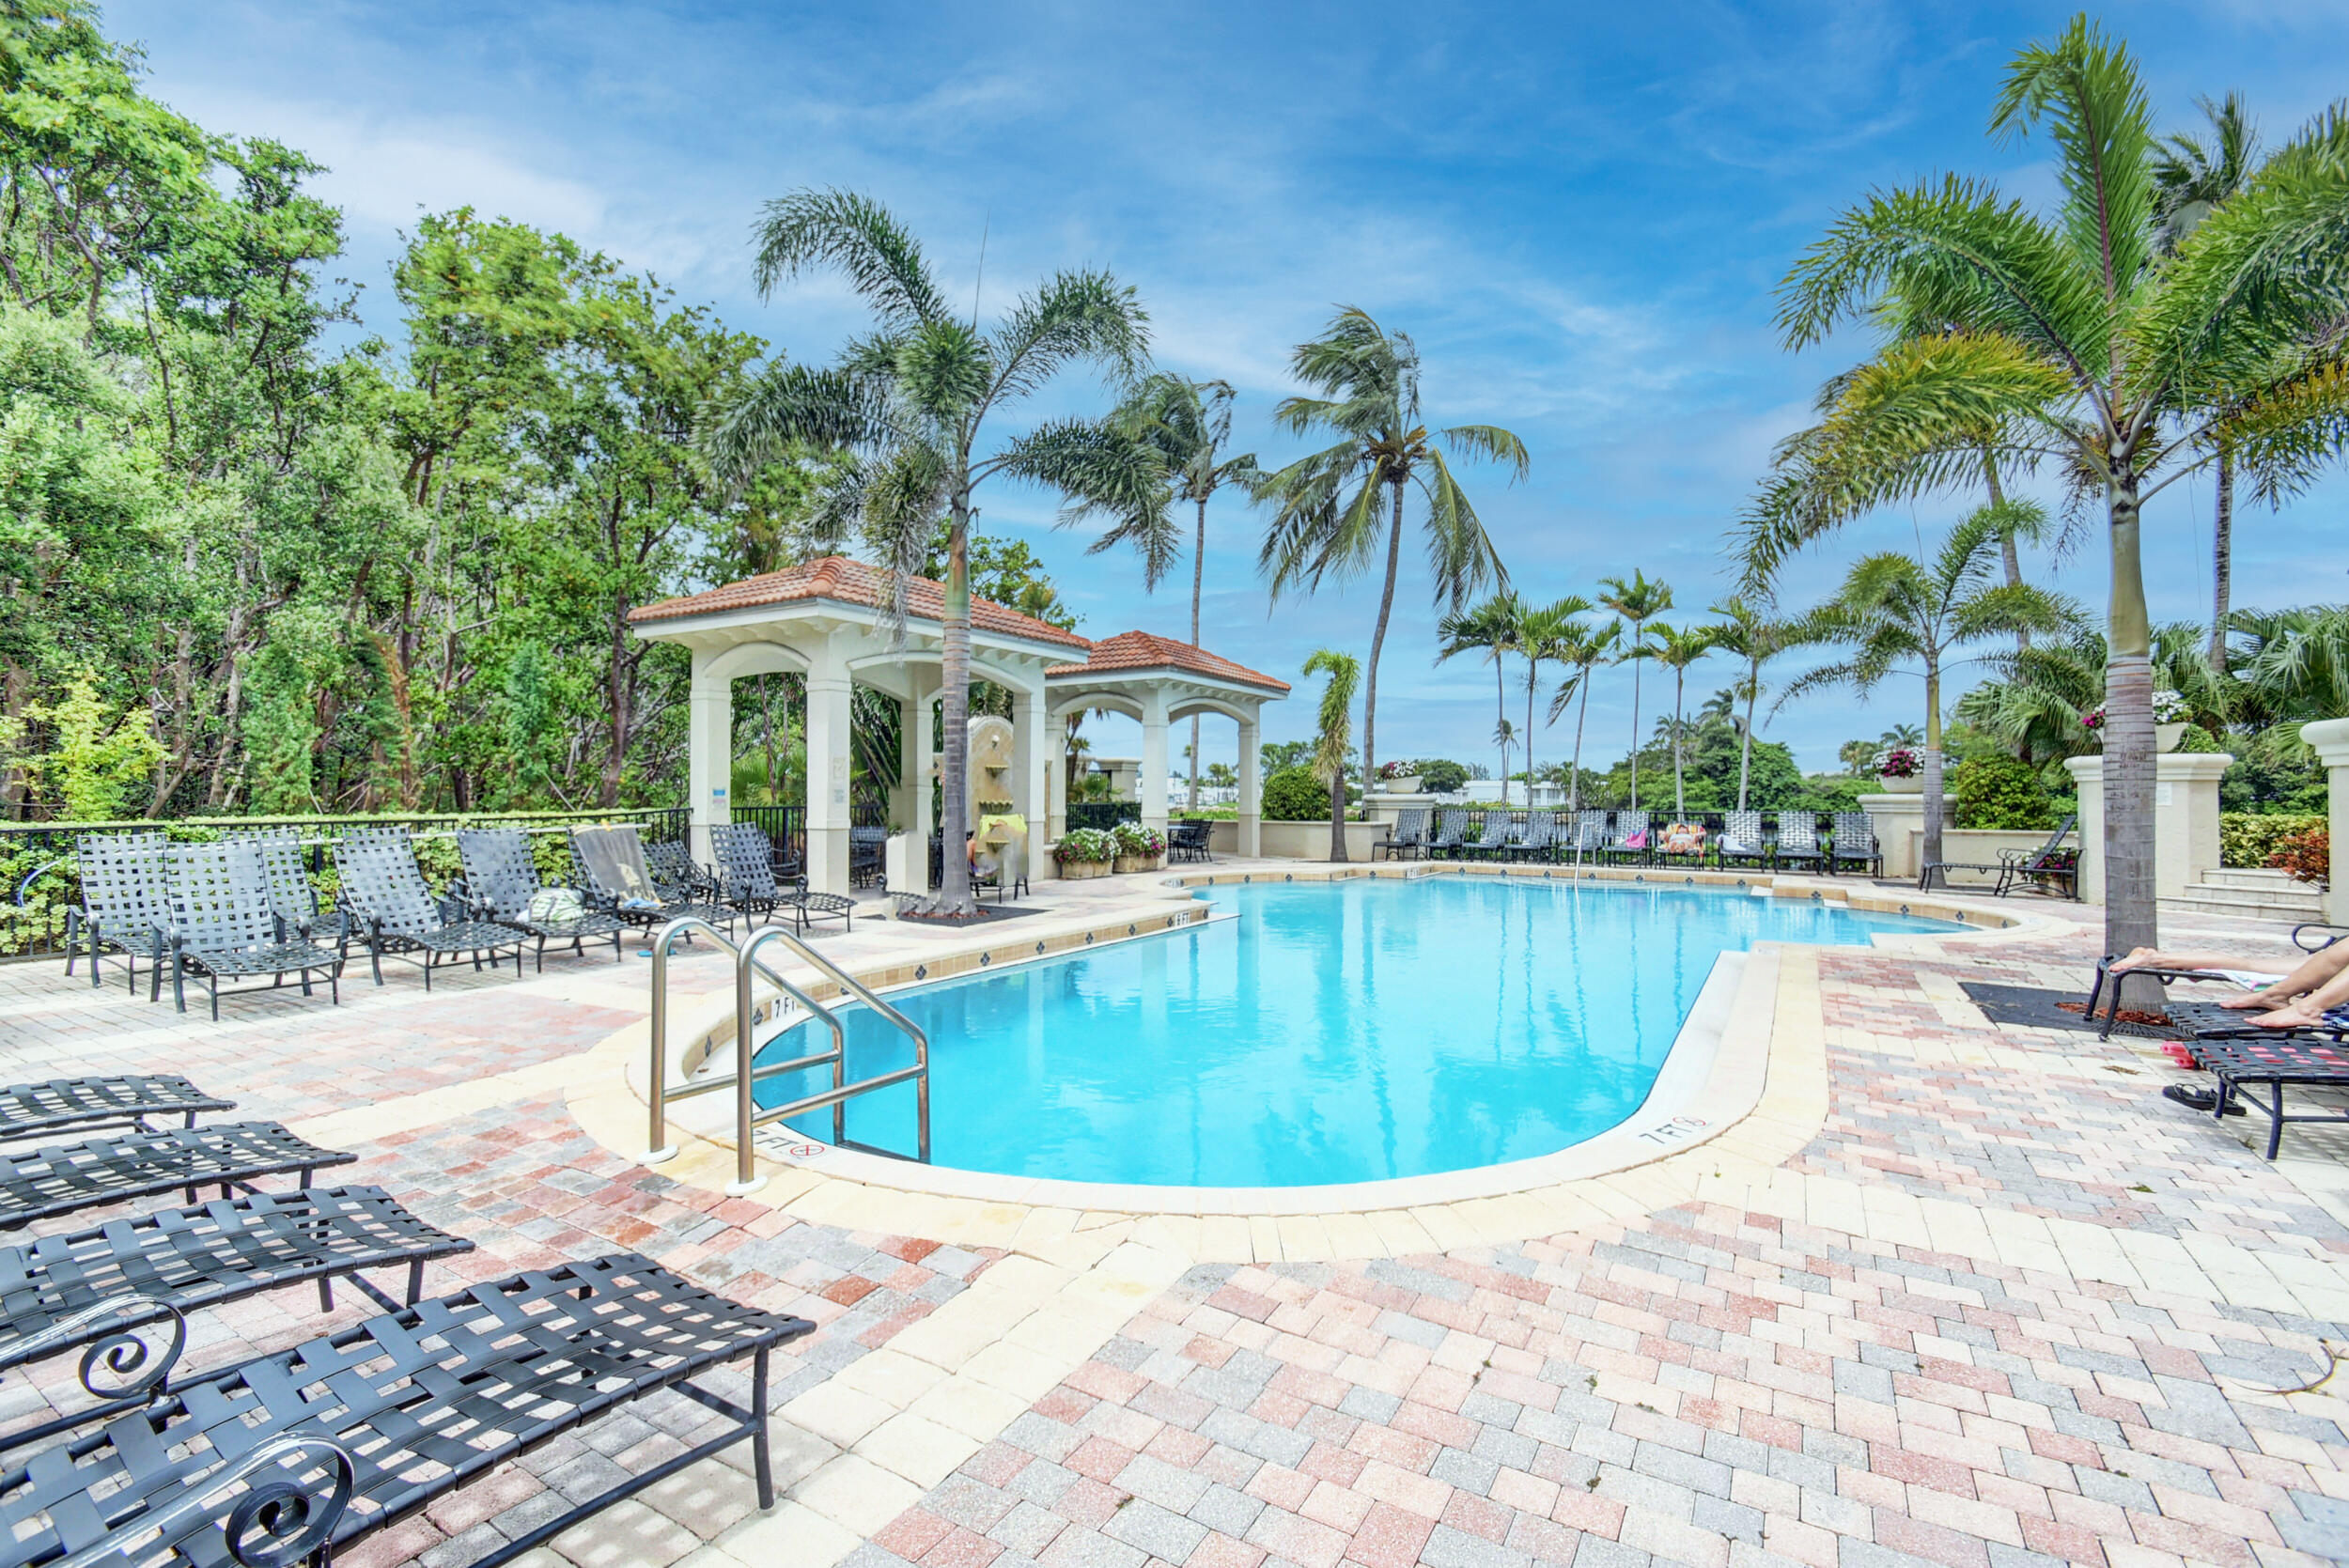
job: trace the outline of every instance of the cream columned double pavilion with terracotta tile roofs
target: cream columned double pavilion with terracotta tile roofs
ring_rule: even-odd
[[[733,683],[796,674],[806,683],[806,864],[815,892],[848,892],[850,690],[867,685],[907,709],[935,714],[944,648],[944,587],[909,577],[902,629],[890,627],[890,577],[876,566],[824,556],[780,573],[662,599],[630,610],[639,638],[693,653],[688,798],[695,852],[707,831],[731,822]],[[1085,709],[1142,721],[1142,822],[1167,824],[1167,725],[1217,714],[1240,728],[1240,852],[1259,847],[1259,711],[1287,683],[1191,643],[1123,631],[1099,643],[987,599],[970,601],[970,676],[1012,692],[1012,810],[1031,824],[1029,876],[1052,873],[1050,843],[1066,831],[1069,716]],[[902,725],[900,789],[890,800],[909,833],[909,866],[926,869],[933,822],[928,779],[935,723]],[[921,876],[921,871],[916,871]]]

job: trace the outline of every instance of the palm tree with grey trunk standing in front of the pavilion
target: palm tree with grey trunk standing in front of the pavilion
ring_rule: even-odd
[[[824,495],[824,516],[834,533],[855,526],[881,554],[897,584],[900,624],[904,582],[923,561],[940,514],[949,519],[940,831],[958,845],[970,826],[972,491],[1003,474],[1135,519],[1167,505],[1158,458],[1106,420],[1048,420],[984,455],[987,415],[1076,364],[1135,376],[1149,359],[1149,315],[1106,272],[1059,272],[1019,296],[991,331],[980,331],[949,312],[914,235],[881,204],[846,190],[794,190],[768,202],[756,242],[761,298],[810,268],[836,268],[874,312],[876,331],[850,343],[832,369],[766,366],[733,404],[714,411],[705,451],[735,486],[794,444],[848,453],[853,460],[836,467]],[[963,854],[947,854],[942,883],[926,908],[977,908]]]

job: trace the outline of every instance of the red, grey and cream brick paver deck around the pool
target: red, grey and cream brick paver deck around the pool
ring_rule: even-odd
[[[1830,1103],[1785,1167],[1724,1160],[1694,1190],[1633,1171],[1604,1223],[1372,1263],[1167,1265],[1106,1223],[970,1246],[641,1169],[564,1106],[571,1059],[644,1012],[634,958],[437,976],[430,1000],[359,976],[343,1009],[247,998],[218,1028],[7,965],[0,1073],[183,1070],[331,1131],[362,1155],[338,1178],[479,1242],[428,1289],[637,1249],[822,1324],[778,1364],[775,1514],[709,1462],[547,1563],[2344,1559],[2349,1408],[2333,1385],[2260,1390],[2349,1347],[2349,1209],[2326,1190],[2349,1141],[2295,1131],[2295,1181],[2241,1122],[2161,1101],[2178,1073],[2145,1042],[1990,1028],[1957,988],[2069,986],[2091,953],[2086,927],[1947,960],[1823,953]],[[726,979],[707,958],[677,974]],[[202,1314],[197,1364],[362,1314],[312,1305]],[[0,1413],[61,1378],[12,1378]],[[343,1561],[456,1568],[700,1420],[608,1420]]]

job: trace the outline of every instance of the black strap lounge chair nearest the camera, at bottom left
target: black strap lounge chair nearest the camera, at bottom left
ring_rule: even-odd
[[[139,1561],[261,1568],[308,1559],[324,1568],[336,1552],[493,1467],[669,1387],[726,1425],[585,1500],[573,1502],[573,1488],[550,1491],[550,1502],[568,1507],[472,1559],[474,1568],[536,1552],[745,1441],[766,1509],[775,1502],[768,1357],[813,1329],[639,1256],[477,1284],[186,1378],[167,1397],[85,1430],[70,1448],[0,1474],[0,1561],[85,1561],[80,1554],[143,1542]],[[693,1383],[745,1357],[747,1408]]]

